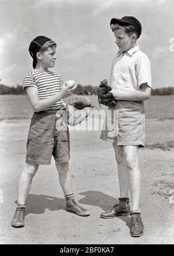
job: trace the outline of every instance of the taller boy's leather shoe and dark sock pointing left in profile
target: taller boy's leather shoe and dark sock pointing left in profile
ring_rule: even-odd
[[[111,219],[117,216],[129,215],[130,213],[129,198],[122,197],[118,199],[119,199],[119,204],[115,204],[108,211],[102,212],[102,214],[100,214],[100,218]]]

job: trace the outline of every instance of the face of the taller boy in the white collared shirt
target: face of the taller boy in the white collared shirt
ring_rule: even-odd
[[[119,51],[125,52],[134,47],[135,38],[125,33],[124,29],[114,30],[116,38],[115,44],[118,45]]]

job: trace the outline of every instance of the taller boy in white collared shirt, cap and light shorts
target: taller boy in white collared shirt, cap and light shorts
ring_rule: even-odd
[[[119,51],[113,60],[110,76],[111,93],[115,106],[108,110],[117,115],[114,126],[117,133],[110,136],[102,130],[102,140],[113,143],[118,166],[119,203],[103,212],[101,218],[131,215],[131,236],[143,235],[143,222],[139,208],[140,169],[138,149],[144,147],[145,99],[151,95],[151,68],[148,56],[136,44],[142,33],[142,26],[135,17],[111,19],[111,30]],[[106,117],[107,118],[107,117]],[[130,210],[129,191],[132,208]]]

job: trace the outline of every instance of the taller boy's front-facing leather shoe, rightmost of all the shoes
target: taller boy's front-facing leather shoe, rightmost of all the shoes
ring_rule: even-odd
[[[138,212],[131,212],[131,236],[142,236],[144,230],[141,214]]]

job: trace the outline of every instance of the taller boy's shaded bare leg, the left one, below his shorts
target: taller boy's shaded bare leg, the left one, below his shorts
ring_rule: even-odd
[[[118,167],[118,179],[119,179],[119,195],[121,198],[129,197],[129,180],[128,172],[124,162],[124,151],[122,146],[113,144],[115,151],[115,159]]]

